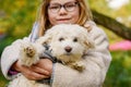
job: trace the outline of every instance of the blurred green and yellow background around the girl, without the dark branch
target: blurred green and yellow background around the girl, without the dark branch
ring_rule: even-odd
[[[0,55],[5,46],[28,36],[41,0],[0,0]],[[131,0],[88,0],[92,10],[131,28]],[[103,18],[102,18],[103,21]],[[131,87],[131,41],[102,27],[109,37],[112,61],[104,87]],[[114,27],[114,26],[112,26]],[[8,84],[0,71],[0,87]]]

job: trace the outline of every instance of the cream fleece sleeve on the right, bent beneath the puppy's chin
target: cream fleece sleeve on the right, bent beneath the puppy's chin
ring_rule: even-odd
[[[106,34],[95,24],[90,32],[95,40],[95,49],[84,57],[85,71],[76,72],[60,63],[55,64],[52,87],[100,87],[105,80],[111,57]]]

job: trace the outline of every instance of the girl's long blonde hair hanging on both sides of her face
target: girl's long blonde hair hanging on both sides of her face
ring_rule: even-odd
[[[51,0],[43,0],[40,10],[39,10],[39,15],[37,18],[37,22],[39,24],[39,37],[45,34],[45,32],[51,27],[51,24],[48,20],[48,5]],[[86,21],[92,20],[92,13],[87,4],[87,0],[76,0],[79,2],[80,7],[80,17],[76,24],[83,26]]]

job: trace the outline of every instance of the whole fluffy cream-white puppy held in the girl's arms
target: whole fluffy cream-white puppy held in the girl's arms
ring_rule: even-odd
[[[36,40],[35,44],[23,41],[20,51],[22,58],[20,62],[26,66],[37,63],[45,50],[44,45],[49,46],[52,57],[56,57],[57,60],[60,60],[63,64],[81,73],[85,69],[81,61],[82,55],[90,48],[94,48],[94,42],[84,27],[71,24],[60,24],[48,29],[45,36]],[[21,75],[14,78],[9,87],[49,87],[49,85],[29,80]]]

